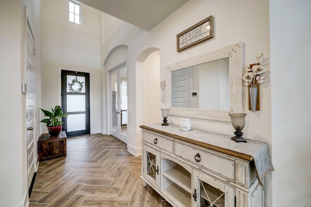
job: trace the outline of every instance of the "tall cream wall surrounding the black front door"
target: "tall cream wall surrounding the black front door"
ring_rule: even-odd
[[[101,12],[82,4],[82,25],[69,22],[68,0],[44,0],[42,12],[43,108],[61,105],[61,69],[90,73],[90,132],[98,133],[101,131]],[[43,113],[40,115],[42,118]]]

